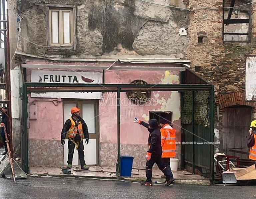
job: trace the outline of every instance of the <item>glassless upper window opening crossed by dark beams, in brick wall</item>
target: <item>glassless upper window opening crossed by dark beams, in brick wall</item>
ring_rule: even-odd
[[[223,0],[224,42],[251,41],[251,4],[248,4],[250,2],[251,0]]]

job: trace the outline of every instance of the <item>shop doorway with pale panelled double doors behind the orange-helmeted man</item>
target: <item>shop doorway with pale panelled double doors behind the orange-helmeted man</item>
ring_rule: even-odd
[[[65,100],[63,101],[63,125],[67,119],[71,117],[70,110],[72,107],[77,107],[80,109],[80,116],[85,121],[88,132],[89,132],[89,144],[84,144],[84,156],[87,165],[97,165],[98,164],[98,135],[99,135],[99,102],[98,100]],[[68,135],[66,135],[64,144],[64,164],[67,163],[68,158]],[[80,164],[78,158],[78,152],[74,152],[73,164]]]

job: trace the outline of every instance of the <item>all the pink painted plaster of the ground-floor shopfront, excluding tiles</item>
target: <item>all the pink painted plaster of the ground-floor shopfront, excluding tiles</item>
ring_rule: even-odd
[[[32,63],[32,62],[31,62]],[[39,64],[39,63],[37,63]],[[42,64],[45,64],[42,62]],[[71,64],[71,63],[70,63]],[[104,64],[107,65],[108,63]],[[75,65],[72,63],[72,65]],[[79,65],[79,64],[76,64]],[[82,64],[81,64],[82,65]],[[86,65],[89,65],[87,63]],[[121,64],[120,64],[121,65]],[[140,64],[141,65],[141,64]],[[143,64],[148,65],[148,64]],[[163,66],[166,64],[162,64]],[[170,64],[168,64],[170,66]],[[56,70],[56,69],[54,69]],[[59,69],[63,70],[63,69]],[[88,71],[88,70],[87,70]],[[105,83],[130,83],[135,79],[142,79],[149,84],[156,83],[179,83],[179,72],[170,71],[169,76],[166,78],[166,71],[121,71],[109,70],[105,72]],[[172,80],[172,76],[176,77]],[[165,79],[166,78],[166,79]],[[164,82],[165,80],[166,82]],[[30,81],[30,70],[27,70],[27,80]],[[171,81],[170,81],[171,80]],[[116,94],[114,101],[116,101]],[[148,131],[145,127],[134,123],[134,117],[141,120],[148,121],[146,118],[149,116],[149,111],[173,111],[173,115],[180,114],[180,100],[173,92],[151,92],[151,98],[158,95],[161,103],[157,106],[123,106],[121,105],[121,143],[122,144],[147,144]],[[107,94],[104,94],[107,96]],[[121,93],[121,99],[127,98],[126,92]],[[36,98],[38,99],[38,98]],[[34,99],[30,99],[34,100]],[[176,106],[175,110],[170,101],[176,101],[172,105]],[[38,119],[30,120],[29,138],[30,139],[43,139],[43,140],[60,140],[61,129],[63,127],[63,108],[62,103],[55,106],[52,102],[36,102],[38,104]],[[108,101],[107,101],[108,103]],[[177,110],[178,108],[178,110]],[[99,107],[99,121],[100,121],[100,142],[102,143],[117,143],[117,107],[116,106],[100,106]],[[173,117],[174,118],[174,117]],[[177,118],[177,117],[176,117]],[[180,141],[180,118],[174,119],[174,128],[177,130],[176,141]],[[177,125],[177,126],[176,126]],[[57,137],[57,138],[56,138]]]

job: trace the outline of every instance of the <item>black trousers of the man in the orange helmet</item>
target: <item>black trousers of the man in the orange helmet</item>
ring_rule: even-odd
[[[74,155],[74,151],[75,151],[75,144],[68,139],[68,164],[72,164],[73,161],[73,155]],[[79,142],[78,148],[78,157],[81,163],[81,166],[85,165],[85,160],[84,160],[84,144],[83,141]]]

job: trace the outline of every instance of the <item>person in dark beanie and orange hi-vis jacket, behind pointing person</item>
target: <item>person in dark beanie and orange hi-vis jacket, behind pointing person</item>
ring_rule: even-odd
[[[173,129],[169,125],[169,121],[166,118],[162,118],[160,120],[161,125],[161,146],[162,146],[162,159],[163,163],[166,167],[170,168],[170,158],[175,157],[175,132],[176,130]]]

